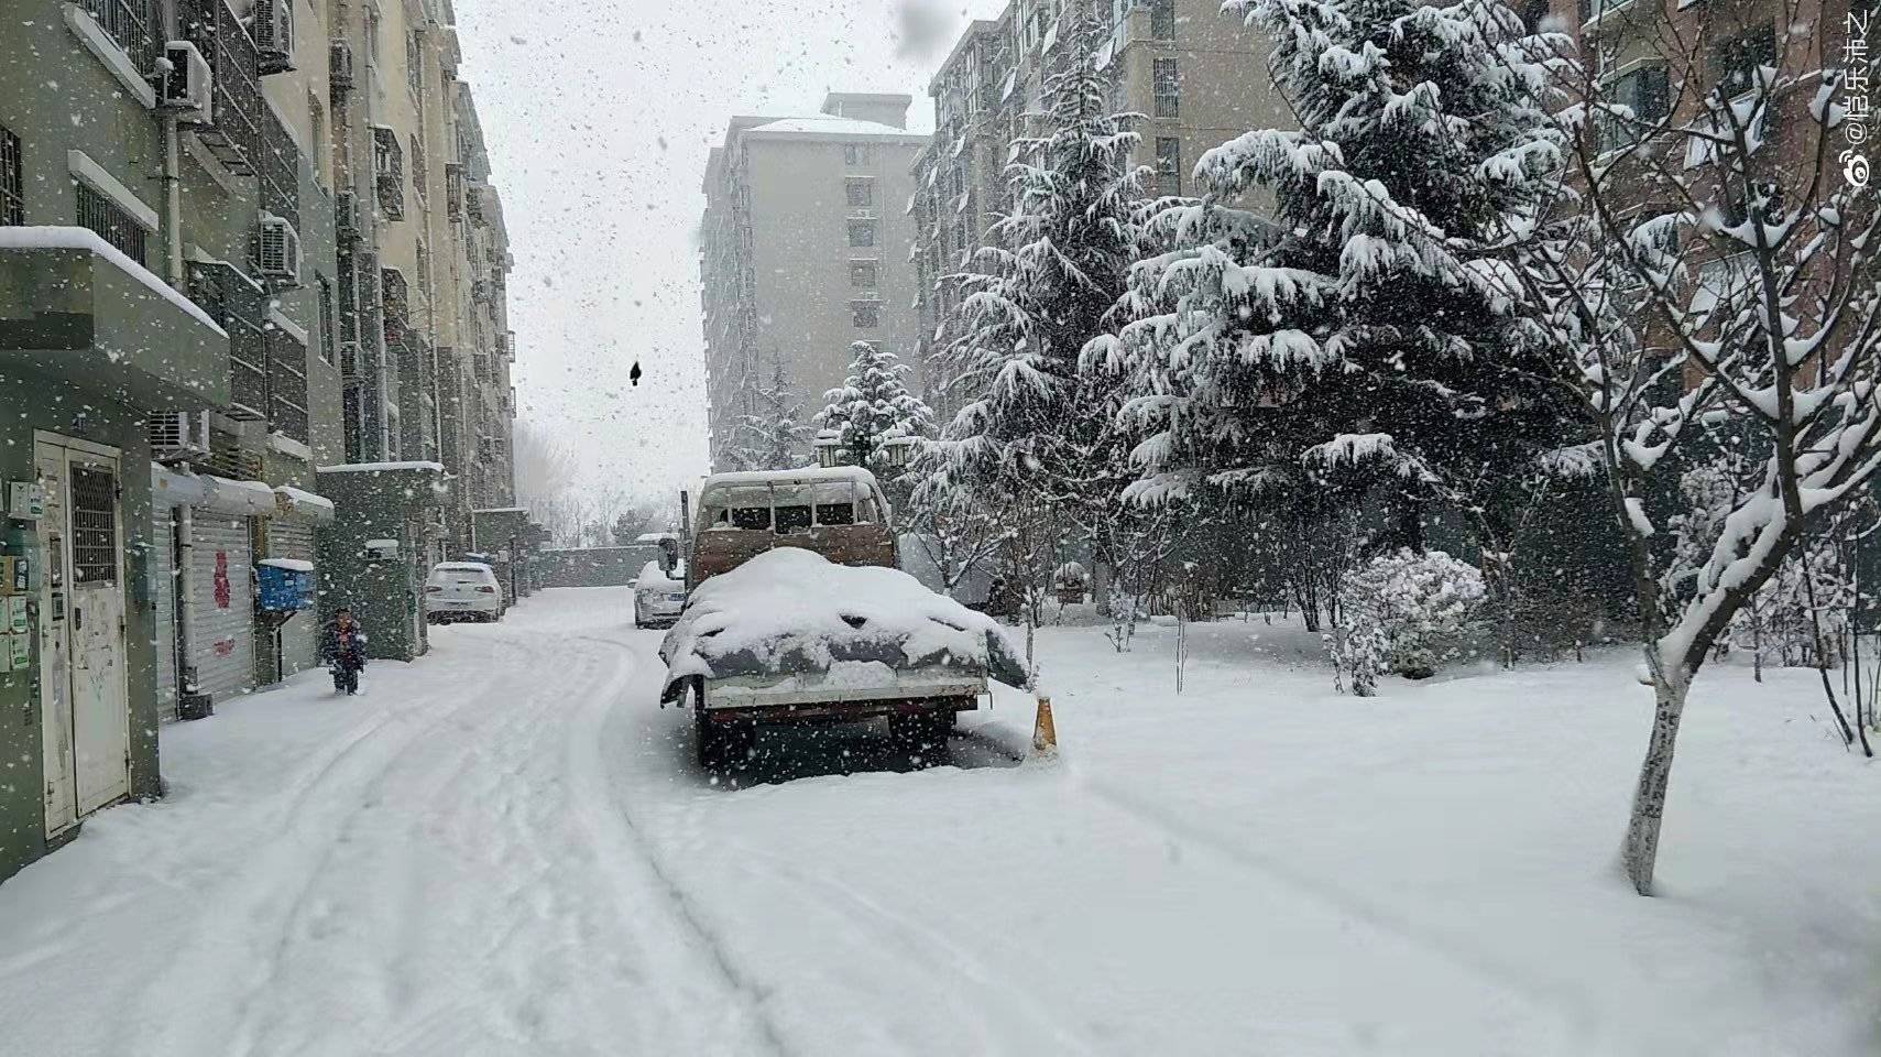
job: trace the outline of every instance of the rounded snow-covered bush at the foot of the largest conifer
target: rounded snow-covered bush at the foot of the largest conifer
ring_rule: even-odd
[[[1384,671],[1435,673],[1462,653],[1484,594],[1482,572],[1443,551],[1369,560],[1339,589],[1345,624],[1330,636],[1339,675],[1369,698]]]

